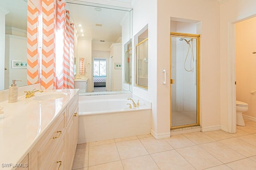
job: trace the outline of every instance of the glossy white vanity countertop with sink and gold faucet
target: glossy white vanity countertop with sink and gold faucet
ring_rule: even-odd
[[[67,92],[68,95],[42,102],[33,100],[33,97],[26,99],[24,95],[15,103],[8,103],[8,100],[0,102],[0,106],[4,107],[3,117],[0,118],[0,167],[2,164],[20,163],[54,118],[78,93],[78,89],[44,90],[44,92]],[[35,95],[43,93],[39,92]]]

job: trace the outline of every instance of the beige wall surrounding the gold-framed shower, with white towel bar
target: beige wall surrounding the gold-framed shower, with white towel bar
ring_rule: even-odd
[[[158,1],[157,14],[157,129],[170,132],[170,17],[202,21],[200,43],[200,125],[220,129],[220,10],[216,0]],[[150,32],[150,29],[149,29]],[[149,39],[150,41],[150,39]],[[167,82],[162,69],[167,70]]]

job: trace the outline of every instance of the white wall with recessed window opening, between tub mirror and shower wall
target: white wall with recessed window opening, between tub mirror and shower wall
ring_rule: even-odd
[[[146,8],[145,8],[146,5]],[[170,21],[169,25],[170,25]],[[138,0],[133,8],[133,35],[136,35],[141,29],[148,24],[148,89],[135,86],[136,72],[135,68],[135,44],[133,43],[133,70],[132,70],[132,92],[141,98],[152,102],[152,133],[161,133],[158,127],[166,124],[166,120],[158,122],[157,112],[157,0]],[[169,31],[170,32],[170,31]],[[168,36],[168,35],[167,35]],[[133,39],[134,41],[134,39]],[[170,51],[170,50],[169,50]],[[162,80],[161,80],[162,81]],[[166,107],[166,106],[165,106]],[[167,106],[168,107],[168,106]],[[169,107],[170,108],[170,107]],[[170,112],[169,112],[170,114]],[[170,115],[167,119],[170,125]],[[170,126],[168,130],[170,134]]]

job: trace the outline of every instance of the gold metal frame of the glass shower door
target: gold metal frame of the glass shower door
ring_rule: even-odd
[[[172,126],[172,84],[175,83],[172,80],[172,37],[180,38],[193,38],[196,39],[196,123],[180,126]],[[188,33],[170,33],[170,129],[177,129],[183,127],[191,127],[200,125],[200,35],[199,34],[188,34]]]

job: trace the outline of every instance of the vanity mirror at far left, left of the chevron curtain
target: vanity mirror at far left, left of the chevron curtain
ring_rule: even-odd
[[[0,90],[27,85],[27,0],[0,1]],[[4,22],[3,22],[4,21]]]

